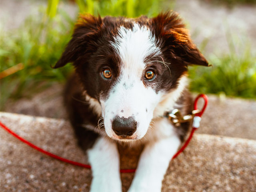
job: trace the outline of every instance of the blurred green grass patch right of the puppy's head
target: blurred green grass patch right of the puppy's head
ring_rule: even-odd
[[[256,98],[256,55],[250,43],[227,34],[229,54],[211,54],[211,67],[191,67],[190,90],[194,92],[225,94]]]

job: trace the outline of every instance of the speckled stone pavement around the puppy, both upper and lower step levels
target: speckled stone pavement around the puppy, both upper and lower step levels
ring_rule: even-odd
[[[9,100],[0,120],[50,152],[87,163],[66,119],[62,92],[63,84],[54,84],[32,98]],[[208,98],[201,126],[188,148],[170,162],[162,191],[255,191],[256,100]],[[141,150],[119,146],[121,168],[136,168]],[[47,157],[2,129],[0,165],[1,192],[86,192],[92,179],[90,170]],[[121,174],[124,192],[133,176]]]

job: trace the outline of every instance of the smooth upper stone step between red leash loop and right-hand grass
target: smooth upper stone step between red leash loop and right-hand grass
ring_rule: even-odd
[[[256,100],[208,98],[198,133],[256,139]]]

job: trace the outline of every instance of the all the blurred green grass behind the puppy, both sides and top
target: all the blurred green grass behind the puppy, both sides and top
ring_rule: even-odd
[[[59,0],[48,0],[48,7],[40,8],[38,16],[28,17],[20,28],[0,30],[0,73],[20,65],[23,68],[1,79],[1,110],[8,98],[31,96],[32,92],[38,92],[52,82],[64,82],[70,73],[70,65],[55,70],[50,67],[70,40],[75,23],[58,8],[58,4]],[[162,7],[170,10],[174,1],[76,0],[76,4],[80,12],[94,15],[137,17],[142,14],[155,16]],[[202,47],[206,46],[207,40],[203,42]],[[234,46],[230,48],[229,55],[210,56],[212,68],[192,68],[192,91],[256,98],[255,56],[249,46],[242,55],[236,54]]]

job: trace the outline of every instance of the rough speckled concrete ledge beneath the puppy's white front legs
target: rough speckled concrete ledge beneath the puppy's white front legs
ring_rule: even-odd
[[[34,144],[71,160],[86,163],[70,124],[62,119],[0,112],[0,120]],[[121,155],[125,168],[136,167],[138,154]],[[128,166],[128,167],[127,167]],[[91,171],[52,159],[0,128],[1,192],[88,191]],[[133,174],[122,174],[126,191]],[[256,189],[256,141],[196,134],[174,159],[162,191],[234,191]]]

